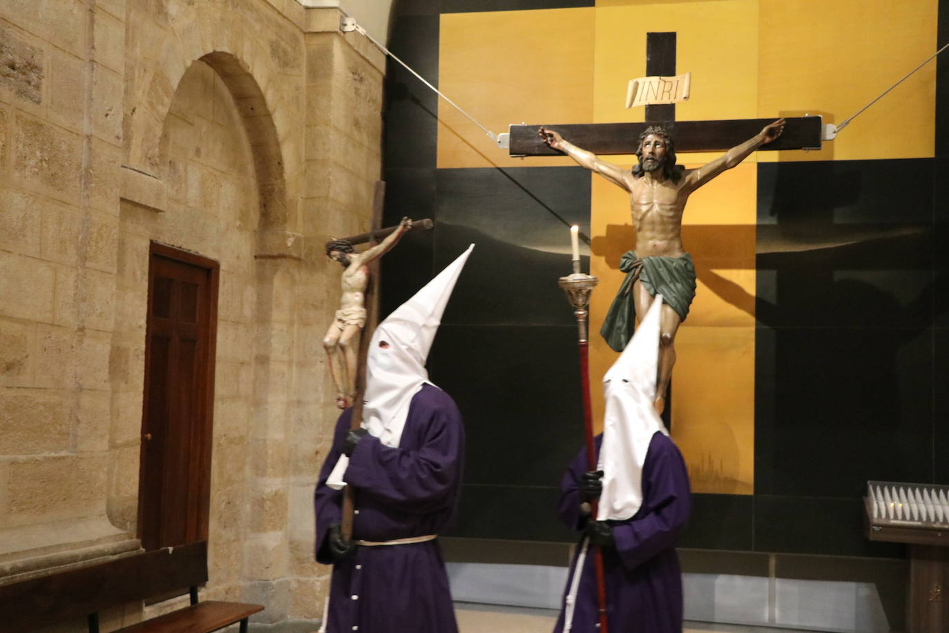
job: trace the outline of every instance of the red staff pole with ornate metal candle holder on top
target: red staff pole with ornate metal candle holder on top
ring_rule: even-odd
[[[590,379],[589,379],[589,340],[586,336],[587,307],[590,301],[590,292],[597,284],[597,278],[580,271],[580,259],[573,260],[573,274],[560,278],[560,287],[567,292],[567,299],[573,306],[573,315],[577,318],[577,347],[580,352],[580,388],[584,395],[584,431],[586,432],[586,463],[587,470],[596,470],[596,447],[593,442],[593,412],[590,406]],[[590,503],[590,512],[593,518],[597,514],[597,502]],[[606,583],[603,570],[603,552],[599,546],[593,546],[593,562],[596,565],[596,594],[597,606],[600,611],[600,633],[607,633],[606,628]],[[574,573],[579,573],[578,569]]]

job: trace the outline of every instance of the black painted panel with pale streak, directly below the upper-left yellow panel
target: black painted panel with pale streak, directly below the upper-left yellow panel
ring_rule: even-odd
[[[554,214],[588,233],[586,170],[441,169],[437,183],[436,269],[475,244],[444,321],[575,324],[557,286],[571,271],[569,230]]]

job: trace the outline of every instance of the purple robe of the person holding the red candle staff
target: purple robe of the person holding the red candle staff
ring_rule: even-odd
[[[596,438],[597,454],[603,436]],[[558,514],[574,530],[582,530],[577,483],[586,473],[586,449],[573,460],[561,483]],[[674,545],[692,508],[685,462],[672,439],[657,432],[649,442],[642,467],[642,506],[625,521],[609,521],[616,549],[603,549],[606,624],[622,633],[679,633],[682,630],[682,578]],[[580,548],[578,548],[579,551]],[[570,569],[565,599],[576,572]],[[573,612],[572,633],[599,630],[596,570],[587,552]],[[564,610],[554,633],[564,631]]]

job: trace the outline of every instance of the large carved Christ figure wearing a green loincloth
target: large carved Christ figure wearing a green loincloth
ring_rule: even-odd
[[[679,324],[685,319],[695,296],[696,271],[692,257],[682,248],[682,213],[685,203],[694,191],[726,169],[735,167],[754,150],[781,136],[784,119],[766,125],[752,139],[730,149],[698,169],[684,169],[676,164],[672,138],[661,126],[652,126],[640,135],[636,151],[639,164],[623,169],[610,164],[591,152],[581,149],[558,133],[540,128],[540,136],[553,149],[560,150],[586,169],[596,172],[629,192],[636,231],[636,251],[623,255],[620,268],[629,273],[616,301],[606,316],[604,334],[613,349],[622,351],[629,340],[631,324],[621,310],[614,309],[623,301],[623,294],[631,294],[636,323],[646,313],[652,297],[661,294],[660,360],[657,377],[656,410],[665,407],[665,392],[676,362],[673,343]],[[632,281],[632,288],[629,282]],[[615,327],[617,331],[608,331]],[[619,348],[618,348],[619,347]]]

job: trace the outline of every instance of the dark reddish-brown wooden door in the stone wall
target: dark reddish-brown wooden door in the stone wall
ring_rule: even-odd
[[[141,420],[144,549],[208,538],[217,263],[152,243]]]

